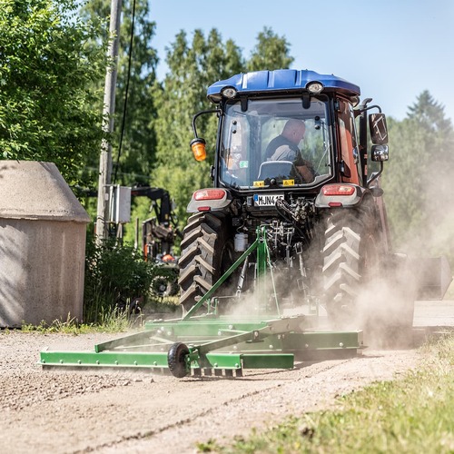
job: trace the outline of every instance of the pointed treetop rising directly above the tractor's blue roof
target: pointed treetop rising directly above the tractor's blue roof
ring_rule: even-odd
[[[276,35],[270,27],[264,27],[257,35],[257,44],[247,63],[248,71],[289,68],[293,57],[289,54],[290,44],[285,36]]]

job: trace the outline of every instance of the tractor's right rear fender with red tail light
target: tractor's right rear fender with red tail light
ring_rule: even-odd
[[[317,208],[354,207],[360,205],[364,195],[370,192],[357,184],[331,183],[321,187],[315,199]]]

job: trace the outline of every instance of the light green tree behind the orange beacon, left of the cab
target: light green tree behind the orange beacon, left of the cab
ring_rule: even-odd
[[[189,143],[192,134],[192,115],[212,106],[206,100],[206,88],[213,81],[241,72],[243,61],[240,49],[228,40],[222,43],[219,33],[205,36],[195,30],[192,43],[181,31],[167,49],[169,72],[163,84],[155,84],[152,97],[158,117],[156,167],[153,185],[167,189],[177,204],[179,219],[186,218],[186,205],[197,188],[211,186],[210,164],[213,161],[217,118],[205,115],[198,127],[207,141],[208,158],[197,163],[192,158]]]

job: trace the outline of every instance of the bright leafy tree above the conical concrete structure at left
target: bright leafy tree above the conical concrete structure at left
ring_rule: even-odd
[[[99,150],[104,77],[98,35],[75,0],[0,1],[0,153],[2,159],[54,162],[68,183]]]

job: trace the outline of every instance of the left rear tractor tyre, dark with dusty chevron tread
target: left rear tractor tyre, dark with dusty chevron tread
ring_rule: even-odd
[[[180,304],[185,312],[234,262],[233,243],[225,215],[213,212],[193,214],[184,228],[181,248],[178,284]]]

